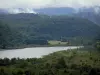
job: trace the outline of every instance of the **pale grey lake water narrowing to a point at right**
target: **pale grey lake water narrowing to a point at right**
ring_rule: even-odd
[[[39,58],[43,55],[48,55],[53,52],[68,50],[68,49],[77,49],[81,46],[68,46],[68,47],[33,47],[33,48],[24,48],[24,49],[14,49],[14,50],[4,50],[0,51],[0,58]]]

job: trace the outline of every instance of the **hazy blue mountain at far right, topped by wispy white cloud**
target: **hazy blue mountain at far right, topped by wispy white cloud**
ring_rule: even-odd
[[[86,18],[100,26],[100,7],[83,7],[78,10],[75,16]]]

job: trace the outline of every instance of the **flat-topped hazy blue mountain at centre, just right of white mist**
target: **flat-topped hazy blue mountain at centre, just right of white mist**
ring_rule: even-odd
[[[35,9],[35,11],[40,14],[46,14],[46,15],[66,15],[66,14],[68,15],[76,12],[76,10],[71,7],[41,8],[41,9]]]

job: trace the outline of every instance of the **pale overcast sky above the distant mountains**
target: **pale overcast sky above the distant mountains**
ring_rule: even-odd
[[[100,0],[0,0],[0,8],[89,7],[100,5]]]

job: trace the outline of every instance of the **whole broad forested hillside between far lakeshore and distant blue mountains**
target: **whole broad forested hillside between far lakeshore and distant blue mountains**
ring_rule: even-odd
[[[48,45],[48,40],[88,45],[99,33],[100,27],[93,22],[66,15],[0,15],[0,48]]]

